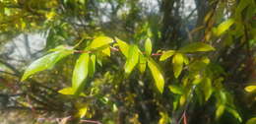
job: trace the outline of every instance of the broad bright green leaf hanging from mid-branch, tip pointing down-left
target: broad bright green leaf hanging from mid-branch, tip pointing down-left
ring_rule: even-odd
[[[137,45],[131,45],[129,48],[128,58],[126,60],[124,71],[127,76],[133,71],[139,62],[139,50]]]

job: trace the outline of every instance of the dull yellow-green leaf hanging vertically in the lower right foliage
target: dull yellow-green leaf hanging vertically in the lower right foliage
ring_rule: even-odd
[[[211,79],[204,78],[203,82],[202,82],[202,85],[203,85],[203,91],[204,91],[204,94],[205,94],[205,101],[207,101],[213,93]]]

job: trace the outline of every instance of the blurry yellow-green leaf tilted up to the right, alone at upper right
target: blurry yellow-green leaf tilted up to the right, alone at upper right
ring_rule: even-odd
[[[227,31],[233,25],[233,23],[234,23],[233,19],[228,19],[228,20],[224,21],[216,29],[216,31],[215,31],[216,35],[217,36],[222,35],[225,31]]]

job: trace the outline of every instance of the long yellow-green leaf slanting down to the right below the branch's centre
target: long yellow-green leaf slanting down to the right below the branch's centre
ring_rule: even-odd
[[[163,92],[164,79],[160,70],[160,66],[152,58],[148,59],[148,66],[151,70],[152,76],[155,80],[155,84],[160,93]]]

